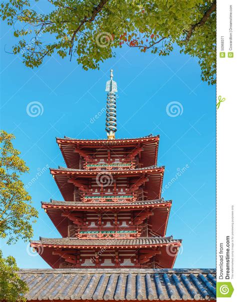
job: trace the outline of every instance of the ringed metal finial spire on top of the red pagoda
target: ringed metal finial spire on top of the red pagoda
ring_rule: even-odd
[[[116,94],[117,83],[113,81],[113,70],[110,70],[110,80],[106,82],[105,91],[107,91],[107,104],[106,104],[106,127],[108,139],[115,138],[115,132],[117,131],[116,124]]]

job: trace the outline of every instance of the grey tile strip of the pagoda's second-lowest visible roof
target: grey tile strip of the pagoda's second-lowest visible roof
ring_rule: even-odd
[[[161,199],[155,199],[155,200],[137,200],[132,202],[78,202],[78,201],[57,201],[57,200],[51,200],[51,202],[41,202],[43,205],[55,205],[55,206],[75,206],[75,207],[122,207],[122,206],[140,206],[140,205],[157,205],[157,204],[165,204],[170,203],[171,200],[165,201],[163,198]]]

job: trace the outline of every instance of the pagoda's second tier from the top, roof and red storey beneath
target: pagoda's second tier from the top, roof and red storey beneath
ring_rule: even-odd
[[[153,200],[160,198],[164,167],[151,166],[109,172],[59,167],[50,169],[50,172],[67,201],[82,201],[83,196],[88,196],[89,201],[95,200],[96,196],[100,200],[101,194],[112,196],[116,201],[124,198],[124,195],[133,194],[137,194],[135,200]],[[85,199],[83,201],[86,202]]]

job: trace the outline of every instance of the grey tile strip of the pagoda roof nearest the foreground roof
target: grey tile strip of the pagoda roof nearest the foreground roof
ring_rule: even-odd
[[[77,239],[77,238],[42,238],[39,237],[39,241],[33,240],[31,243],[42,245],[55,245],[55,246],[139,246],[139,245],[159,245],[165,243],[178,243],[181,239],[173,239],[169,237],[139,237],[134,239]]]

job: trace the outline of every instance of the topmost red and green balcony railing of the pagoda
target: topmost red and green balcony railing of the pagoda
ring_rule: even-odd
[[[135,169],[136,161],[135,160],[121,160],[121,162],[109,162],[109,163],[101,163],[101,162],[94,162],[91,161],[85,162],[83,165],[83,169],[93,171],[93,170],[127,170],[127,169]]]

